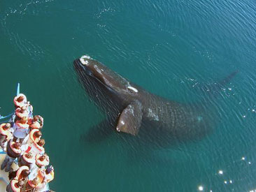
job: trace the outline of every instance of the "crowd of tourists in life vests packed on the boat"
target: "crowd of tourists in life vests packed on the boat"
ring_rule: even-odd
[[[33,116],[33,106],[24,94],[15,96],[13,102],[13,116],[0,125],[0,146],[6,152],[1,170],[8,172],[10,179],[6,191],[50,191],[48,183],[54,179],[54,169],[43,147],[43,117]]]

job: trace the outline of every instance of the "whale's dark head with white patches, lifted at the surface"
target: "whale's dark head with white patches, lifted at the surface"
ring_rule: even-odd
[[[105,98],[118,98],[122,103],[129,103],[139,94],[138,86],[89,56],[76,59],[73,66],[87,94],[97,96],[97,99],[104,95]]]

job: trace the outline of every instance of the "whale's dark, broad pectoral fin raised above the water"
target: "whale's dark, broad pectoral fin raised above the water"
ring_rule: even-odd
[[[129,133],[131,135],[138,134],[138,129],[141,126],[142,105],[139,101],[133,101],[125,110],[122,111],[116,130]]]

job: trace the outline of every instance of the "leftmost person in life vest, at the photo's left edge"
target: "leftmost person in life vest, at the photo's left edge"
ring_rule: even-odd
[[[13,137],[13,133],[10,130],[10,124],[0,125],[0,146],[4,151],[6,151],[7,142]]]

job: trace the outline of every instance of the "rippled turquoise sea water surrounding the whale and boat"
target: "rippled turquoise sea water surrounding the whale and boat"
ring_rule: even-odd
[[[255,15],[246,0],[0,1],[0,114],[13,110],[20,82],[45,118],[55,191],[256,189]],[[83,54],[184,103],[204,101],[201,84],[239,74],[204,105],[213,133],[145,156],[116,136],[80,140],[104,119],[73,71]]]

